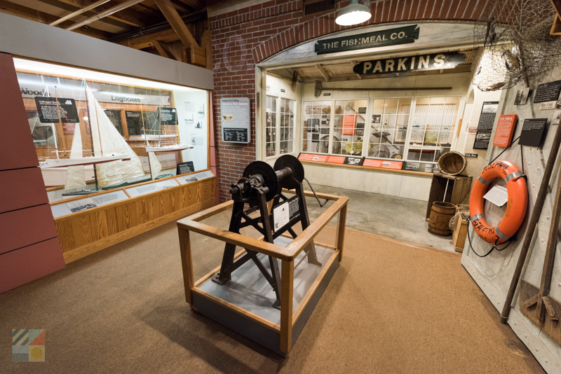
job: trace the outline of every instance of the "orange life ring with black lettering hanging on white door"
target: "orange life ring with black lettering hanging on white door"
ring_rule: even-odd
[[[518,231],[526,216],[528,207],[528,187],[524,175],[508,161],[496,161],[487,165],[473,183],[469,200],[469,215],[475,233],[485,242],[501,244],[509,240]],[[483,195],[487,193],[489,184],[495,178],[503,178],[508,190],[508,202],[503,219],[492,228],[485,221]]]

